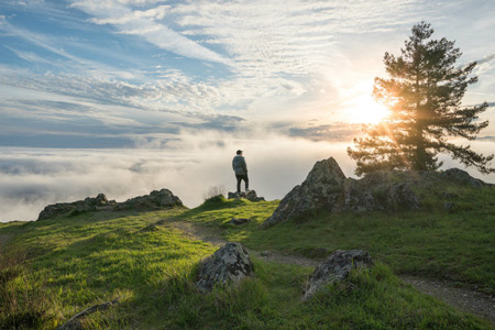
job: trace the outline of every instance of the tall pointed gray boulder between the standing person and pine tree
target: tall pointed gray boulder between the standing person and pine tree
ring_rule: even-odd
[[[333,157],[317,162],[306,180],[282,199],[263,226],[270,227],[310,210],[332,211],[342,196],[344,184],[345,176]]]

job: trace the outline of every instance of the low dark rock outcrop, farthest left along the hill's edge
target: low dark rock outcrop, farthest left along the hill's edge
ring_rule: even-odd
[[[84,200],[48,205],[43,209],[43,211],[41,211],[40,216],[37,217],[37,220],[45,220],[53,217],[68,215],[70,212],[95,211],[97,207],[114,204],[116,204],[114,200],[109,201],[107,199],[107,196],[105,196],[105,194],[98,194],[98,196],[95,198],[87,197]]]

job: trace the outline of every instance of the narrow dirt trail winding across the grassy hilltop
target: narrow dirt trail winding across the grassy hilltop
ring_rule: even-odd
[[[220,238],[217,230],[208,228],[202,224],[191,223],[187,221],[164,219],[157,222],[157,224],[172,226],[183,231],[187,237],[210,242],[216,246],[227,243],[226,240]],[[289,265],[300,266],[317,266],[318,262],[296,256],[286,255],[275,251],[249,251],[257,258],[268,262],[277,262]],[[430,295],[446,304],[459,309],[463,309],[468,312],[482,317],[495,323],[495,297],[466,288],[455,287],[453,283],[444,280],[436,280],[430,278],[420,278],[413,276],[400,276],[400,278],[413,285],[416,289],[427,295]]]

